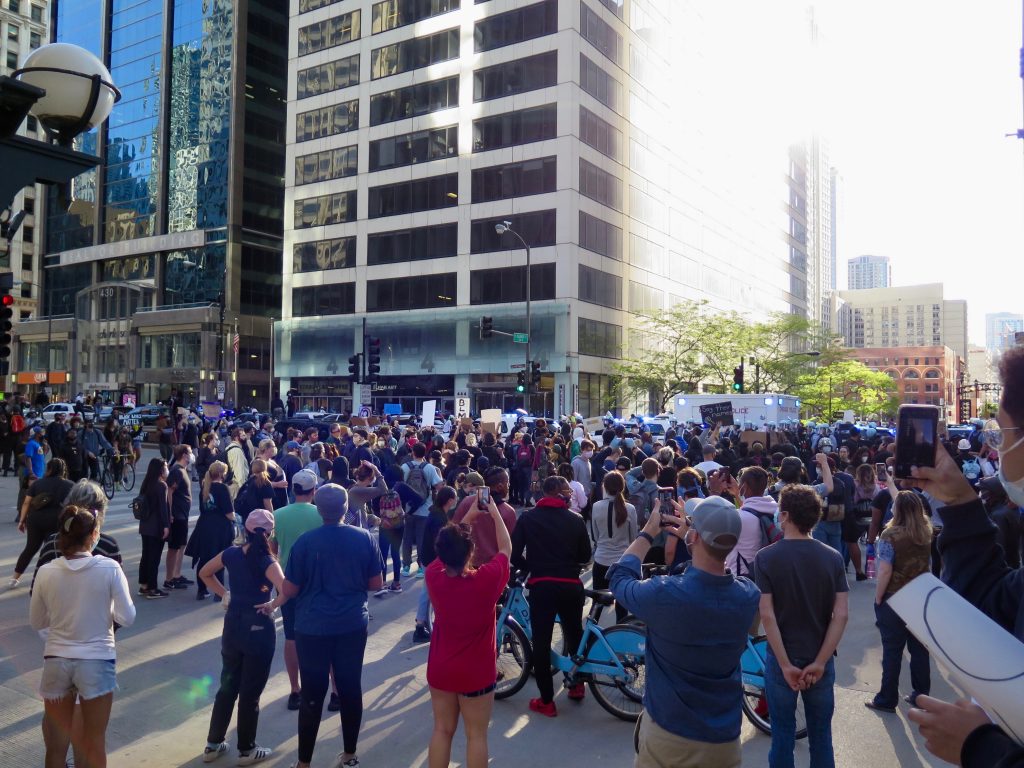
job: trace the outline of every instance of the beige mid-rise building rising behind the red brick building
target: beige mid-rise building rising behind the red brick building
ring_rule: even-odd
[[[947,346],[967,360],[967,302],[943,297],[942,284],[839,291],[837,331],[846,346]]]

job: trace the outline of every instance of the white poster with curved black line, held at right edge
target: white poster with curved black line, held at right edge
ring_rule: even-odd
[[[1024,643],[931,573],[889,598],[932,658],[1024,744]]]

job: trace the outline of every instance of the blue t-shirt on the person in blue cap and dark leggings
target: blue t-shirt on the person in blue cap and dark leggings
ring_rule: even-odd
[[[352,525],[321,525],[299,537],[285,574],[300,590],[295,631],[303,635],[344,635],[366,631],[367,586],[381,575],[376,537]]]

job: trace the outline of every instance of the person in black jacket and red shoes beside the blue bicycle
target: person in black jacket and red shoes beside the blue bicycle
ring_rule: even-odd
[[[544,480],[544,498],[519,517],[512,531],[512,565],[529,571],[529,622],[534,631],[534,669],[551,665],[551,633],[555,616],[562,624],[565,647],[574,653],[583,639],[583,583],[580,571],[590,562],[590,535],[583,517],[568,507],[568,480],[552,475]],[[525,554],[523,554],[525,550]],[[540,698],[529,701],[534,712],[555,717],[551,675],[538,674]],[[569,688],[569,698],[584,697],[583,683]]]

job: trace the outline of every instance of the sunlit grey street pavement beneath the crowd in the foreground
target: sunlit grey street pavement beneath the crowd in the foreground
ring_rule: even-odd
[[[153,452],[146,451],[146,460]],[[135,592],[139,557],[136,523],[128,510],[134,494],[119,494],[111,505],[104,530],[121,545],[128,582]],[[0,479],[0,568],[6,583],[24,537],[11,520],[16,480]],[[195,578],[185,563],[185,573]],[[34,565],[32,566],[34,567]],[[163,568],[161,569],[163,573]],[[31,568],[30,574],[31,577]],[[364,668],[366,706],[359,757],[364,766],[425,766],[431,731],[429,693],[425,683],[428,646],[413,645],[413,615],[423,582],[410,580],[406,592],[385,600],[371,598],[373,622]],[[853,584],[852,618],[838,658],[837,713],[834,722],[837,764],[873,768],[937,766],[924,742],[901,714],[882,716],[863,707],[879,684],[881,647],[873,626],[873,582]],[[133,595],[134,596],[134,595]],[[195,588],[169,598],[147,601],[134,596],[135,625],[118,634],[118,679],[108,730],[112,766],[199,766],[206,740],[213,694],[220,672],[218,653],[220,606],[197,602]],[[0,595],[0,766],[41,765],[39,728],[42,703],[36,692],[42,642],[28,626],[29,579]],[[262,697],[258,742],[273,749],[267,766],[288,766],[296,758],[296,713],[288,712],[289,692],[282,649]],[[933,673],[934,674],[934,673]],[[909,690],[906,665],[902,692]],[[530,714],[528,685],[495,706],[490,755],[495,765],[529,765],[538,759],[568,766],[626,766],[633,760],[633,726],[616,720],[588,696],[582,705],[557,696],[559,717]],[[933,695],[952,698],[948,682],[935,674]],[[231,753],[218,765],[233,765]],[[769,738],[743,724],[743,763],[767,764]],[[456,738],[453,757],[463,765],[464,740]],[[331,765],[340,752],[338,719],[325,710],[314,765]],[[797,748],[797,764],[808,764],[806,741]]]

